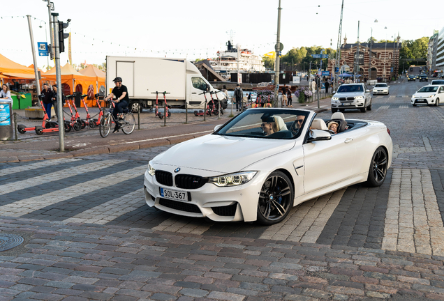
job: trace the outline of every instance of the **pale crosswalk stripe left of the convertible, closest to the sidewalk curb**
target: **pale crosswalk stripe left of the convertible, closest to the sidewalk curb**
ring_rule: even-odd
[[[52,162],[54,164],[54,160],[45,160],[45,162]],[[69,178],[71,176],[77,176],[86,171],[98,171],[121,162],[125,162],[125,160],[113,160],[113,161],[102,161],[102,162],[95,161],[89,164],[84,164],[80,167],[78,166],[70,167],[67,169],[63,169],[61,171],[45,174],[43,176],[27,178],[26,180],[18,180],[13,183],[0,185],[0,195],[7,194],[9,192],[14,192],[16,190],[23,188],[31,188],[38,185],[47,184],[52,182],[53,180],[62,180],[64,178]]]

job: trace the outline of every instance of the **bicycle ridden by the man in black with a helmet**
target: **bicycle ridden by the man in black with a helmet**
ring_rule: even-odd
[[[114,103],[114,100],[110,100],[110,107],[106,109],[103,108],[103,117],[99,125],[99,132],[103,138],[110,134],[112,123],[119,124],[121,131],[124,132],[124,134],[131,134],[135,128],[134,115],[128,108],[124,109],[124,116],[121,118],[121,120],[115,120],[114,116],[112,115],[112,109],[115,107]]]

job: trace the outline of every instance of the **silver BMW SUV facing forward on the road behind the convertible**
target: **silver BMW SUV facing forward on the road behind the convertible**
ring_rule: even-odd
[[[365,84],[343,84],[332,97],[332,113],[344,109],[371,111],[371,94]]]

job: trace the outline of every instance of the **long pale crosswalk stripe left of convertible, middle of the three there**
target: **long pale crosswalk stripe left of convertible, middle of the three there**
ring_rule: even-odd
[[[20,217],[22,215],[27,215],[33,211],[51,206],[54,203],[59,203],[73,197],[89,194],[90,192],[94,192],[95,190],[103,187],[110,187],[114,184],[121,183],[124,180],[137,178],[138,176],[142,175],[146,169],[147,167],[145,165],[135,167],[133,169],[126,169],[125,171],[112,173],[101,178],[89,180],[87,182],[43,194],[41,196],[34,196],[29,199],[8,203],[4,206],[0,206],[0,216]]]

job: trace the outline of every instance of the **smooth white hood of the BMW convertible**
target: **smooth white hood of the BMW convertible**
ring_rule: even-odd
[[[172,146],[168,151],[154,157],[152,162],[221,174],[233,173],[266,157],[288,151],[293,146],[295,146],[295,140],[208,134]]]

